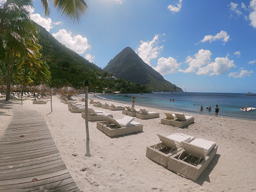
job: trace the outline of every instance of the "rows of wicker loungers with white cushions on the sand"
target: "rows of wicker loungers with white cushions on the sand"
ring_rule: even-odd
[[[69,101],[68,110],[70,112],[81,113],[85,116],[85,108],[82,104],[76,104]],[[90,100],[90,104],[97,108],[113,110],[122,110],[126,116],[115,119],[110,113],[88,108],[88,120],[97,122],[97,129],[104,132],[109,137],[122,136],[134,132],[142,132],[143,125],[134,121],[134,117],[140,119],[157,118],[157,112],[150,113],[146,109],[135,109],[127,106],[115,106],[99,101]],[[161,119],[161,124],[184,127],[192,124],[194,118],[180,113],[164,113],[166,118]],[[143,116],[146,115],[146,116]],[[182,133],[174,133],[169,136],[157,134],[159,142],[147,147],[146,156],[152,161],[168,168],[172,172],[179,173],[192,180],[204,172],[205,168],[211,163],[216,155],[218,145],[213,141],[195,138]]]

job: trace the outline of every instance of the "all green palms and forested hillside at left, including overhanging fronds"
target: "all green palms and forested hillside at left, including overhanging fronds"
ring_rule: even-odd
[[[22,93],[28,85],[40,83],[60,88],[72,85],[83,88],[84,81],[90,83],[91,92],[150,92],[147,86],[116,79],[112,74],[85,60],[55,40],[44,28],[29,19],[28,7],[32,0],[7,0],[0,5],[0,85],[6,84],[6,100],[10,99],[12,84],[19,84]],[[70,8],[68,3],[57,3],[54,6],[70,19],[79,19],[86,10],[84,1],[73,1]],[[45,13],[49,7],[42,2]],[[82,3],[82,5],[79,5]],[[61,7],[61,8],[60,8]],[[63,10],[62,10],[63,11]],[[72,12],[74,13],[72,16]]]

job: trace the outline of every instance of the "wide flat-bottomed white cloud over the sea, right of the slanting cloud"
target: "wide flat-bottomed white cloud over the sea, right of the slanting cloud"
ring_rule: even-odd
[[[227,57],[225,58],[216,58],[214,62],[206,65],[205,67],[199,68],[197,75],[220,75],[228,72],[230,68],[234,68],[236,65],[234,64],[234,60],[229,60]]]

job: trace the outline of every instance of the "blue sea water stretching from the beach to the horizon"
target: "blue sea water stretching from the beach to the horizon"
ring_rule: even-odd
[[[141,94],[120,94],[120,95],[100,95],[105,99],[118,100],[127,104],[131,104],[132,96],[136,97],[136,104],[141,106],[149,106],[160,109],[170,109],[172,111],[184,111],[192,113],[200,113],[204,115],[215,115],[215,106],[218,104],[220,108],[220,116],[230,116],[236,118],[244,118],[256,120],[256,110],[240,111],[240,108],[249,106],[256,108],[256,96],[247,96],[245,93],[170,93],[170,92],[154,92]],[[175,102],[170,102],[174,99]],[[200,106],[204,107],[200,111]],[[206,107],[210,105],[212,110]]]

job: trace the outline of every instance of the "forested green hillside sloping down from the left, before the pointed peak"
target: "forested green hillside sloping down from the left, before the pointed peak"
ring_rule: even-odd
[[[84,81],[87,79],[90,92],[150,92],[148,86],[111,78],[112,74],[62,45],[42,26],[38,25],[38,31],[38,43],[42,46],[40,51],[42,60],[49,65],[53,87],[71,85],[75,88],[83,88]]]

